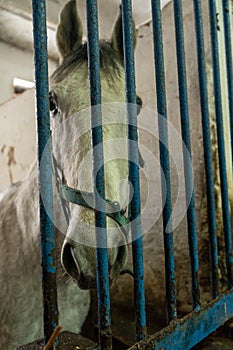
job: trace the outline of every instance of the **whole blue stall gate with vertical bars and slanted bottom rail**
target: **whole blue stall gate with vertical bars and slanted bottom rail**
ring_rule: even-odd
[[[207,1],[207,0],[206,0]],[[218,2],[218,4],[221,1]],[[48,71],[47,71],[47,37],[46,37],[46,2],[45,0],[33,0],[33,23],[34,23],[34,48],[35,48],[35,75],[37,89],[37,126],[38,126],[38,149],[39,161],[42,153],[45,160],[44,149],[47,140],[50,137],[49,125],[49,104],[48,104]],[[211,290],[212,302],[207,305],[201,305],[200,289],[198,281],[198,247],[197,247],[197,230],[195,218],[194,194],[191,193],[191,201],[187,209],[188,241],[191,262],[191,285],[192,285],[192,305],[193,312],[183,319],[177,318],[176,309],[176,285],[175,285],[175,262],[173,249],[173,234],[166,233],[164,229],[164,251],[166,267],[166,301],[168,326],[155,335],[148,336],[146,330],[145,314],[145,294],[143,281],[143,249],[142,239],[139,238],[132,243],[133,250],[133,267],[134,267],[134,293],[135,293],[135,327],[137,344],[131,349],[190,349],[198,344],[202,339],[207,337],[211,332],[223,325],[227,320],[233,317],[233,293],[232,293],[232,235],[230,206],[228,199],[228,186],[225,161],[225,145],[223,130],[223,101],[221,95],[220,81],[220,61],[219,61],[219,43],[218,43],[218,15],[216,1],[208,0],[209,4],[209,23],[212,46],[212,67],[214,82],[215,111],[218,136],[219,151],[219,168],[221,179],[222,211],[224,223],[224,240],[225,240],[225,260],[227,274],[228,291],[221,294],[219,291],[218,278],[218,244],[216,234],[216,215],[215,215],[215,195],[214,180],[212,174],[212,156],[210,144],[210,126],[208,111],[208,92],[206,76],[206,60],[204,50],[203,21],[202,21],[202,2],[193,0],[193,11],[196,29],[196,47],[197,62],[199,71],[199,88],[201,97],[202,128],[203,128],[203,145],[205,156],[206,172],[206,190],[208,203],[208,222],[209,222],[209,244],[210,244],[210,261],[211,261]],[[186,61],[184,50],[184,32],[182,19],[182,1],[173,0],[174,5],[174,23],[177,53],[177,74],[179,84],[179,101],[180,101],[180,118],[182,127],[182,139],[191,154],[190,130],[189,130],[189,110],[188,95],[186,82]],[[100,93],[100,75],[99,75],[99,38],[98,38],[98,11],[97,0],[87,0],[87,28],[88,28],[88,60],[89,60],[89,78],[90,78],[90,95],[91,104],[98,105],[101,103]],[[109,4],[109,6],[111,6]],[[134,69],[134,49],[132,36],[132,4],[131,0],[122,0],[122,19],[123,19],[123,38],[124,38],[124,61],[125,61],[125,78],[126,78],[126,98],[129,106],[136,104],[135,93],[135,69]],[[142,5],[143,6],[143,5]],[[151,1],[152,23],[154,35],[154,65],[155,80],[157,91],[157,111],[163,116],[163,121],[167,120],[166,108],[166,81],[164,73],[164,56],[163,56],[163,31],[161,20],[160,0]],[[230,124],[232,129],[233,123],[233,69],[232,69],[232,4],[230,0],[222,0],[222,11],[224,19],[225,34],[225,51],[227,81],[225,82],[228,90],[228,108]],[[96,118],[96,115],[95,115]],[[98,115],[101,121],[101,114]],[[137,141],[136,110],[128,108],[128,138]],[[160,121],[159,121],[160,123]],[[101,125],[101,123],[99,123]],[[94,125],[94,124],[93,124]],[[233,129],[232,129],[233,130]],[[166,192],[162,188],[164,197],[163,208],[163,227],[166,228],[168,220],[172,214],[172,201],[170,194],[170,165],[169,165],[169,148],[168,148],[168,130],[167,123],[159,124],[159,134],[163,138],[160,143],[160,162],[161,169],[166,179]],[[101,143],[101,127],[92,129],[93,144]],[[231,138],[232,140],[232,138]],[[129,143],[130,144],[130,143]],[[132,143],[131,143],[132,144]],[[164,144],[167,147],[164,147]],[[43,259],[43,292],[45,300],[45,340],[48,340],[54,328],[57,325],[57,305],[56,305],[56,271],[53,260],[51,259],[54,248],[54,228],[50,221],[45,206],[52,208],[52,173],[51,173],[51,155],[46,151],[47,161],[43,161],[43,169],[40,169],[40,189],[46,193],[46,205],[40,203],[40,220],[41,220],[41,242],[42,242],[42,259]],[[98,159],[93,159],[95,169],[103,161],[103,150],[99,149]],[[138,150],[129,148],[130,159],[137,159]],[[100,162],[100,163],[99,163]],[[192,167],[185,162],[185,188],[186,195],[193,188]],[[137,219],[137,224],[133,230],[138,230],[141,237],[140,222],[140,193],[139,193],[139,169],[137,162],[129,164],[129,180],[134,188],[134,195],[130,203],[132,219]],[[103,181],[96,183],[97,191],[104,193]],[[96,197],[96,201],[98,198]],[[96,212],[96,225],[103,227],[105,225],[105,213]],[[104,231],[106,233],[106,230]],[[106,236],[107,237],[107,236]],[[106,239],[102,237],[101,239]],[[48,244],[49,242],[49,244]],[[49,259],[48,259],[49,257]],[[108,264],[107,250],[97,248],[97,289],[98,289],[98,312],[99,312],[99,339],[101,349],[111,349],[111,317],[110,317],[110,292],[108,287]]]

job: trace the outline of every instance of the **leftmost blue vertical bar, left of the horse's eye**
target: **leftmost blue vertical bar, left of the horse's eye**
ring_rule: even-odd
[[[42,254],[42,289],[44,299],[44,341],[47,343],[58,324],[55,235],[52,220],[53,189],[51,152],[46,147],[50,139],[48,55],[45,0],[32,0],[34,28],[34,60],[37,101],[38,159],[40,195],[40,231]],[[43,154],[43,164],[41,158]]]

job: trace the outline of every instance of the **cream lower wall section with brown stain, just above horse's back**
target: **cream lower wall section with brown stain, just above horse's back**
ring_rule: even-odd
[[[0,106],[0,191],[22,180],[36,159],[34,89]]]

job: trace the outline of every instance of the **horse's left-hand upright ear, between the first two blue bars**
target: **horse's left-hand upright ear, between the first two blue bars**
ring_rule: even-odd
[[[57,46],[62,57],[82,45],[83,29],[79,18],[76,1],[70,0],[60,14],[57,28]]]

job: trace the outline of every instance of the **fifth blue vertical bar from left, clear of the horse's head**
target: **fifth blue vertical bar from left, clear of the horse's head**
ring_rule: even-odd
[[[189,127],[189,110],[188,110],[188,94],[187,94],[187,80],[186,80],[186,63],[184,50],[184,30],[182,18],[182,3],[181,0],[174,0],[174,18],[175,18],[175,32],[176,32],[176,53],[177,53],[177,71],[180,95],[180,118],[182,139],[187,147],[191,157],[191,142],[190,142],[190,127]],[[193,309],[200,305],[200,291],[198,282],[198,245],[197,245],[197,230],[196,230],[196,213],[193,193],[193,174],[192,167],[186,159],[186,152],[184,157],[184,175],[185,175],[185,190],[186,196],[191,200],[187,208],[187,223],[188,223],[188,238],[189,238],[189,252],[191,261],[191,276],[192,276],[192,303]]]

